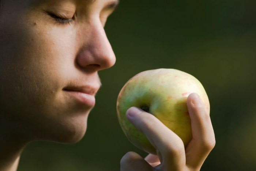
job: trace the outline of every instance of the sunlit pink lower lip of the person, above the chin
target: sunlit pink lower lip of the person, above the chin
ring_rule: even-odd
[[[74,96],[76,100],[78,100],[79,102],[87,106],[93,107],[95,105],[95,97],[93,95],[82,93],[79,91],[68,91],[68,90],[64,90],[64,91]]]

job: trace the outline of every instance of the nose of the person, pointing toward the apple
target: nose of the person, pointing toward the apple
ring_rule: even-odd
[[[76,56],[76,63],[83,70],[95,72],[115,64],[116,56],[101,22],[90,22],[90,26],[79,36],[82,46]]]

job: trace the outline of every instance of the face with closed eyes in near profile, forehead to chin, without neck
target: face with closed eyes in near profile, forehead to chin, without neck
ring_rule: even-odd
[[[104,31],[116,3],[3,1],[1,119],[15,125],[16,134],[63,143],[78,142],[84,136],[101,86],[98,71],[116,61]]]

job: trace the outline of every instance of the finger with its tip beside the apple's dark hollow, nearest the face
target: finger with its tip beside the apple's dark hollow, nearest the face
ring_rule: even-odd
[[[154,115],[137,107],[129,108],[126,116],[158,150],[159,158],[162,159],[162,163],[165,163],[164,167],[167,167],[167,170],[185,166],[184,144],[177,134],[167,128]]]

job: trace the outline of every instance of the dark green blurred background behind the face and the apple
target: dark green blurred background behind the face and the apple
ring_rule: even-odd
[[[203,84],[216,146],[202,170],[256,168],[256,8],[252,0],[121,0],[105,30],[116,64],[100,71],[102,88],[84,138],[73,145],[32,142],[18,171],[118,171],[128,151],[116,99],[125,82],[149,69],[175,68]]]

